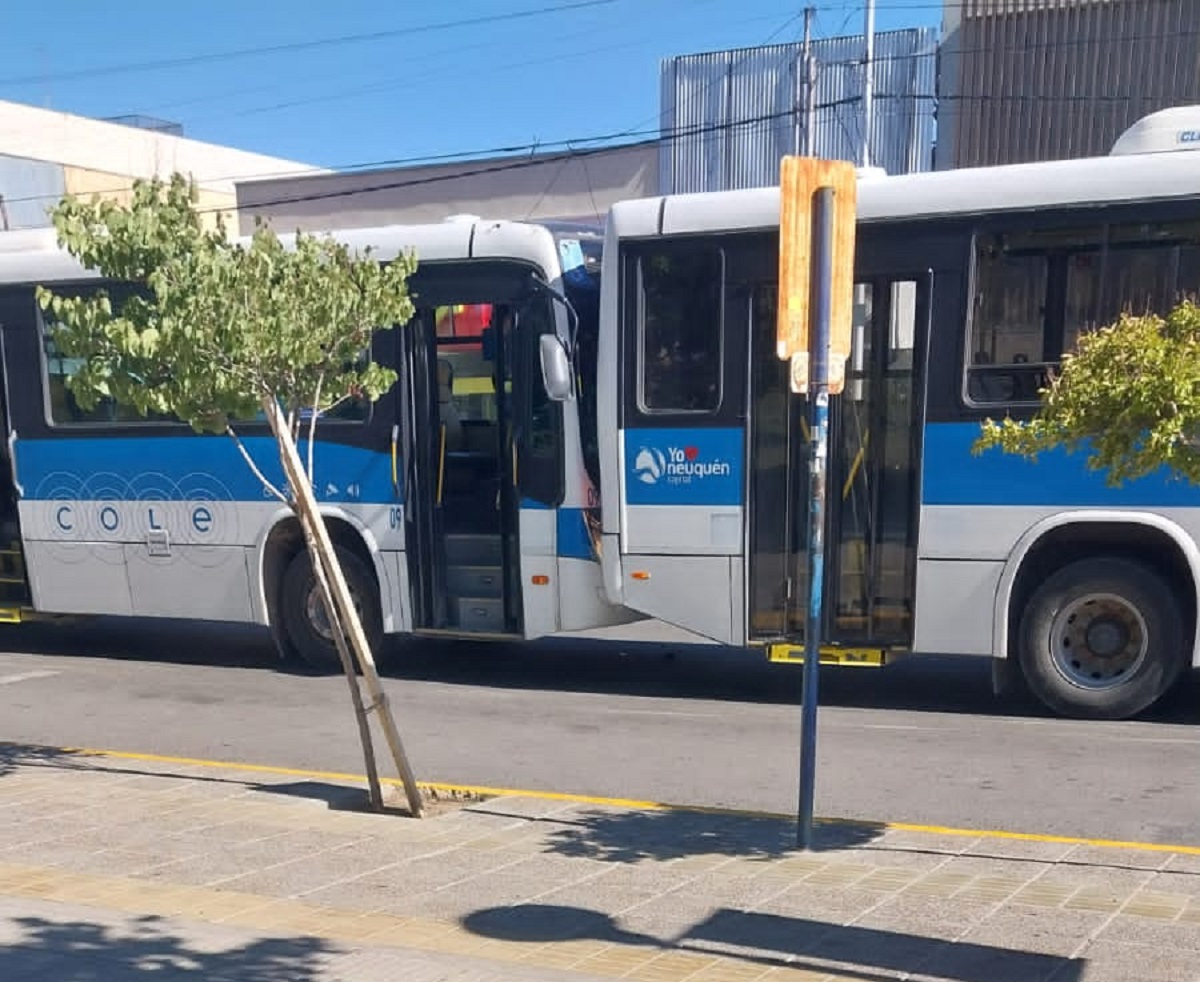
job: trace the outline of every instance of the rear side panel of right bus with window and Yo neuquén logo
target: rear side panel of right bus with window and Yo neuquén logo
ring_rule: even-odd
[[[733,645],[745,641],[743,262],[704,239],[622,257],[623,599]]]

